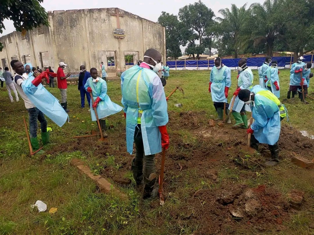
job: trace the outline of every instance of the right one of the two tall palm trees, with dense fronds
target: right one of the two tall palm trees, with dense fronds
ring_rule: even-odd
[[[251,17],[247,21],[246,29],[252,30],[251,40],[254,46],[265,44],[266,54],[272,56],[275,40],[281,37],[279,33],[281,21],[277,14],[280,11],[279,1],[266,0],[263,5],[253,3],[249,11]]]

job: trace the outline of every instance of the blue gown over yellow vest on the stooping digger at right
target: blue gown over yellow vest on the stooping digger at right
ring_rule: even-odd
[[[254,86],[251,91],[255,93],[254,103],[250,105],[254,118],[251,125],[253,135],[259,143],[274,145],[278,142],[281,128],[279,106],[276,104],[280,102],[271,91],[260,86]]]

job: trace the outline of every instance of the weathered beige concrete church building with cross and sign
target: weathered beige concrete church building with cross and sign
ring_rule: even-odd
[[[132,13],[118,8],[62,10],[49,11],[48,18],[50,27],[0,38],[2,68],[12,70],[10,61],[18,59],[56,71],[63,61],[68,64],[65,73],[78,74],[80,65],[99,70],[103,61],[108,75],[116,76],[143,60],[149,48],[160,51],[165,61],[165,28]]]

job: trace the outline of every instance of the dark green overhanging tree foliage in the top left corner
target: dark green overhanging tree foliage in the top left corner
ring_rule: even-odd
[[[13,21],[17,31],[25,34],[26,31],[39,25],[49,26],[48,14],[39,3],[43,0],[1,0],[0,3],[0,34],[5,29],[3,20]],[[0,42],[0,51],[3,44]]]

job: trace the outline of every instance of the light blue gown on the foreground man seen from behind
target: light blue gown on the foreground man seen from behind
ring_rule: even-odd
[[[145,155],[161,152],[159,126],[168,123],[167,101],[159,76],[150,69],[134,65],[121,75],[122,104],[126,118],[127,151],[133,153],[138,117]]]

